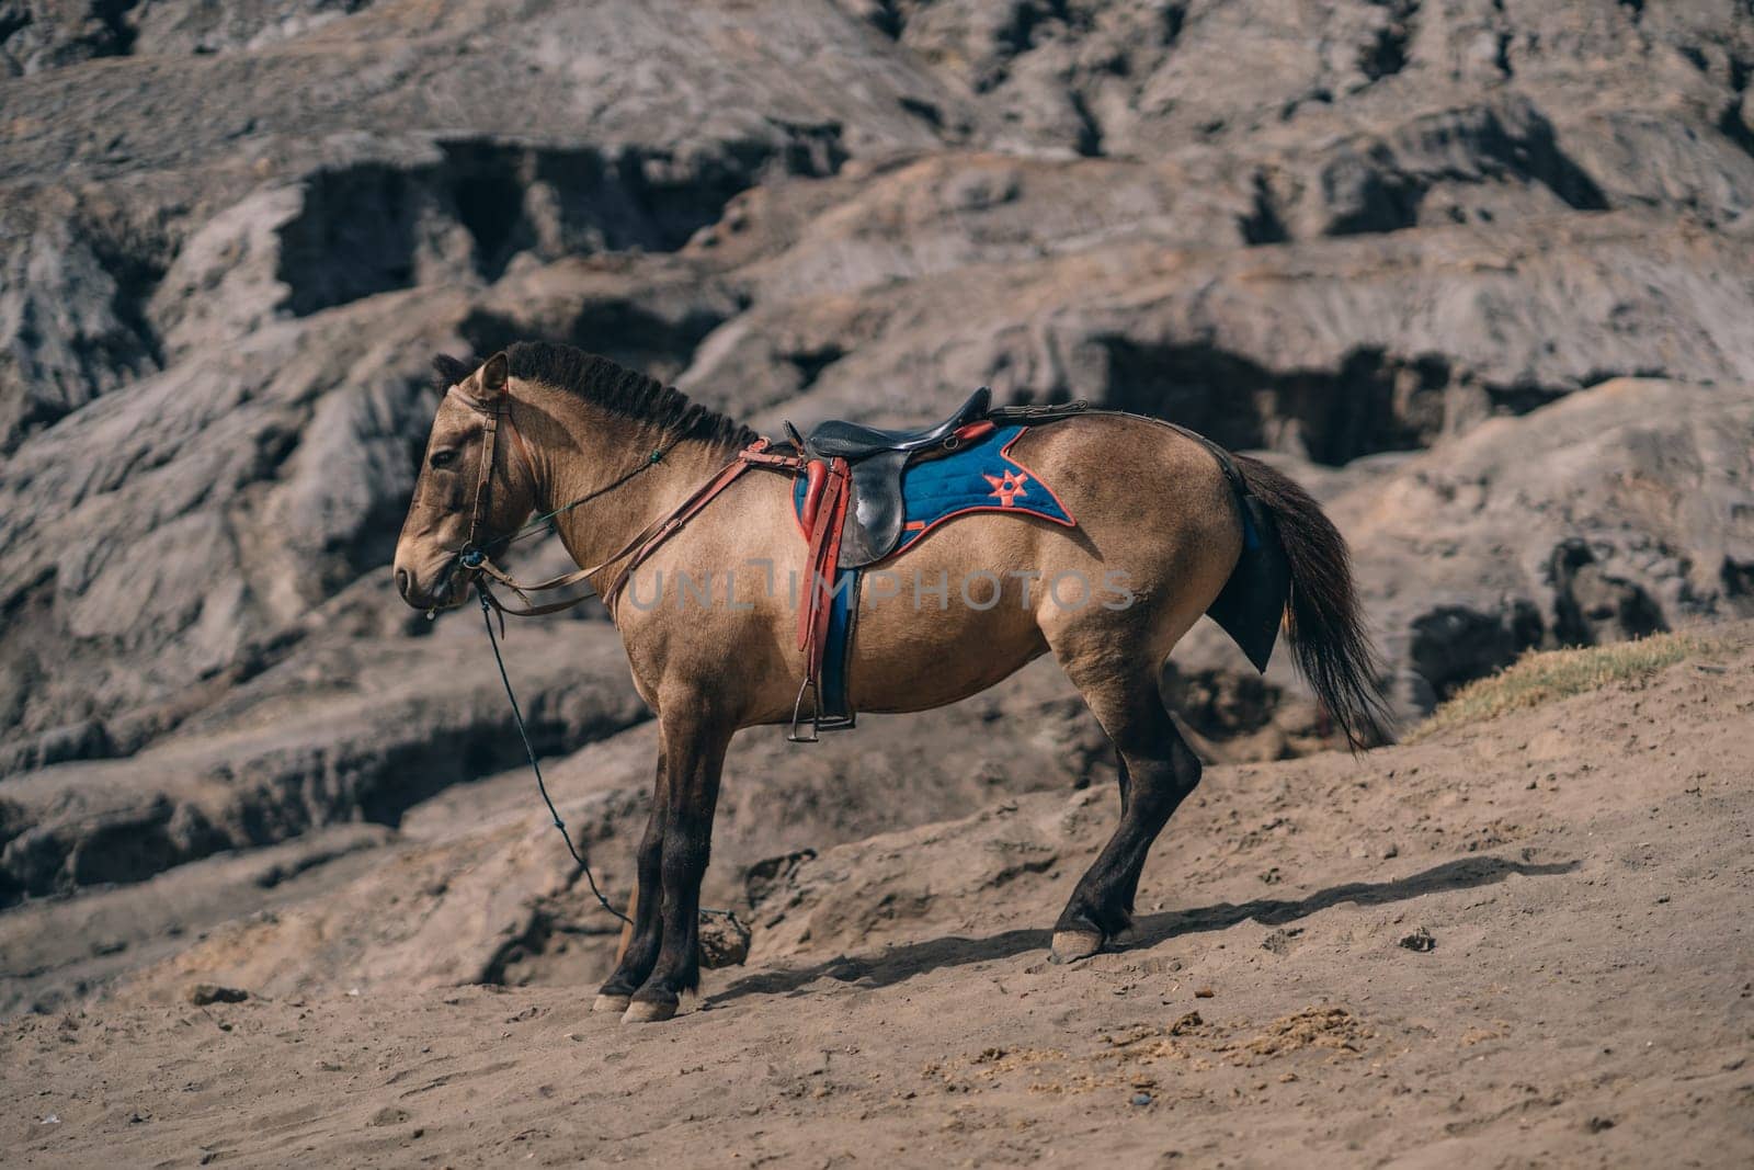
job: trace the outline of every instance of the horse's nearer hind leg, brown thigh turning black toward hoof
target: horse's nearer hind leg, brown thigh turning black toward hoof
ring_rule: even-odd
[[[1163,707],[1156,656],[1149,667],[1140,661],[1137,640],[1093,628],[1051,642],[1121,756],[1121,823],[1054,924],[1054,960],[1066,963],[1094,954],[1131,924],[1145,854],[1200,784],[1200,760]]]

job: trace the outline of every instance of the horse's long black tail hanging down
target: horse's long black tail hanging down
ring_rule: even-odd
[[[1393,719],[1377,689],[1380,665],[1365,631],[1345,537],[1298,484],[1266,463],[1231,456],[1249,493],[1272,510],[1291,561],[1286,633],[1328,714],[1352,751],[1387,738]]]

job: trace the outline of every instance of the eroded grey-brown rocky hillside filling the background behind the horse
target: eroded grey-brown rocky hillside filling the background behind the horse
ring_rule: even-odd
[[[384,572],[438,349],[568,340],[768,428],[984,382],[1265,447],[1352,537],[1408,712],[1524,646],[1745,612],[1750,68],[1740,7],[1612,0],[0,4],[12,889],[475,774],[395,744],[467,758],[496,716],[386,698],[342,789],[402,796],[235,819],[286,803],[239,744],[332,738],[291,703],[474,653]],[[584,677],[624,670],[607,633]],[[1323,742],[1282,665],[1187,649],[1214,751]],[[574,693],[554,654],[531,702]],[[88,788],[161,845],[16,795]]]

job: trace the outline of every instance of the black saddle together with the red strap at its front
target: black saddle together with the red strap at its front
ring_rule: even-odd
[[[835,568],[861,568],[895,553],[907,514],[902,472],[917,454],[954,451],[993,430],[988,419],[991,405],[993,391],[982,386],[947,419],[921,430],[879,430],[831,419],[817,423],[809,437],[791,432],[809,460],[805,530],[814,537],[817,519],[831,521],[831,516],[821,516],[824,498],[833,510],[844,509]],[[835,479],[842,482],[831,486]],[[835,498],[835,488],[845,500]]]

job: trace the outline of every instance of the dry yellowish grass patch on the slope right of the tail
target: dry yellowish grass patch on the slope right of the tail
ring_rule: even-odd
[[[1438,731],[1494,719],[1512,710],[1540,707],[1556,698],[1594,691],[1608,682],[1645,679],[1710,649],[1693,633],[1656,633],[1636,642],[1589,646],[1573,651],[1531,651],[1498,674],[1477,679],[1451,695],[1401,742],[1415,744]]]

